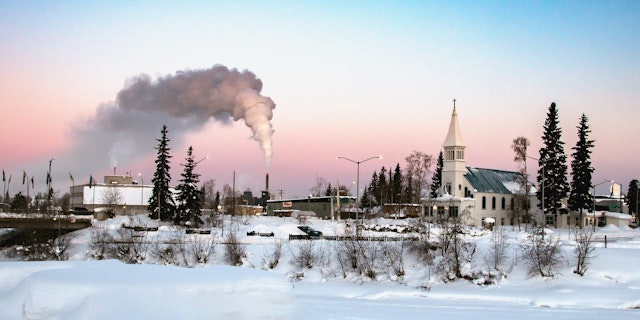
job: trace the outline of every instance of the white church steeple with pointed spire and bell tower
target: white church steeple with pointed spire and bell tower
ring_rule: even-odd
[[[458,122],[458,112],[456,111],[456,99],[453,99],[453,113],[449,123],[449,132],[442,144],[444,149],[444,163],[442,172],[442,193],[448,193],[456,197],[466,196],[462,191],[464,175],[467,173],[466,162],[464,160],[464,141],[462,131]]]

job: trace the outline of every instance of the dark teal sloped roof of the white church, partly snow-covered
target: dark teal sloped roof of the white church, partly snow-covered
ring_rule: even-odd
[[[475,192],[513,194],[520,190],[520,173],[467,167],[467,181]]]

